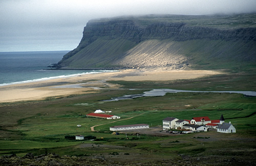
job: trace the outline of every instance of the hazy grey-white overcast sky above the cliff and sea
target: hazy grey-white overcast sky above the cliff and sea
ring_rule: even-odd
[[[73,50],[94,18],[248,12],[255,0],[0,0],[0,52]]]

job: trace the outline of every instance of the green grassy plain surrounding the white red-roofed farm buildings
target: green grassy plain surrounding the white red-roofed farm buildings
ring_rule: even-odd
[[[249,78],[245,75],[243,77]],[[211,80],[214,90],[233,87],[236,82],[230,76],[210,77],[199,80],[176,82],[115,82],[133,88],[181,88],[205,90]],[[242,76],[233,79],[243,80]],[[224,81],[226,80],[226,81]],[[225,82],[225,84],[223,84]],[[243,82],[242,82],[243,83]],[[198,86],[198,85],[202,86]],[[208,83],[209,84],[209,83]],[[244,84],[246,84],[244,82]],[[253,88],[252,81],[247,83]],[[240,87],[243,90],[243,87]],[[184,88],[183,88],[184,89]],[[212,90],[211,89],[211,90]],[[248,89],[246,89],[248,90]],[[255,90],[255,89],[251,89]],[[103,102],[125,94],[142,93],[142,90],[101,90],[62,99],[2,103],[0,105],[0,155],[24,156],[27,153],[41,155],[56,153],[60,156],[93,158],[146,163],[163,159],[189,163],[253,164],[255,163],[256,98],[229,93],[167,93],[163,97],[144,97],[133,100]],[[119,120],[89,118],[85,115],[96,109],[112,111]],[[190,120],[192,117],[209,116],[217,120],[223,114],[225,122],[231,122],[237,133],[224,134],[216,131],[193,134],[169,134],[161,130],[162,119],[174,116]],[[131,118],[132,117],[132,118]],[[127,118],[127,120],[126,120]],[[110,126],[149,124],[151,130],[124,132],[112,135]],[[80,124],[82,127],[77,128]],[[97,132],[92,132],[91,127]],[[136,131],[137,132],[137,131]],[[93,135],[94,141],[69,140],[66,135]],[[129,137],[127,139],[126,137]],[[198,159],[199,158],[199,159]]]

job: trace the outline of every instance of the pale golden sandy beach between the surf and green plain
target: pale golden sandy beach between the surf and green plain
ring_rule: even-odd
[[[121,88],[120,85],[107,83],[106,81],[108,80],[168,81],[196,79],[218,74],[223,73],[212,70],[127,69],[119,72],[87,74],[77,77],[0,86],[0,103],[42,100],[49,97],[60,98],[71,94],[97,92],[100,88]]]

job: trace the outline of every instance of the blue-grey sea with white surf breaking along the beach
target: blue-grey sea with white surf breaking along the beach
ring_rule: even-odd
[[[68,52],[0,52],[0,86],[111,72],[110,70],[52,70],[48,67],[59,62]]]

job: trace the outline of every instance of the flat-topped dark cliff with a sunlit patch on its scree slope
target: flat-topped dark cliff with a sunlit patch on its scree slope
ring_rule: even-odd
[[[90,20],[61,68],[223,68],[256,61],[256,14]]]

